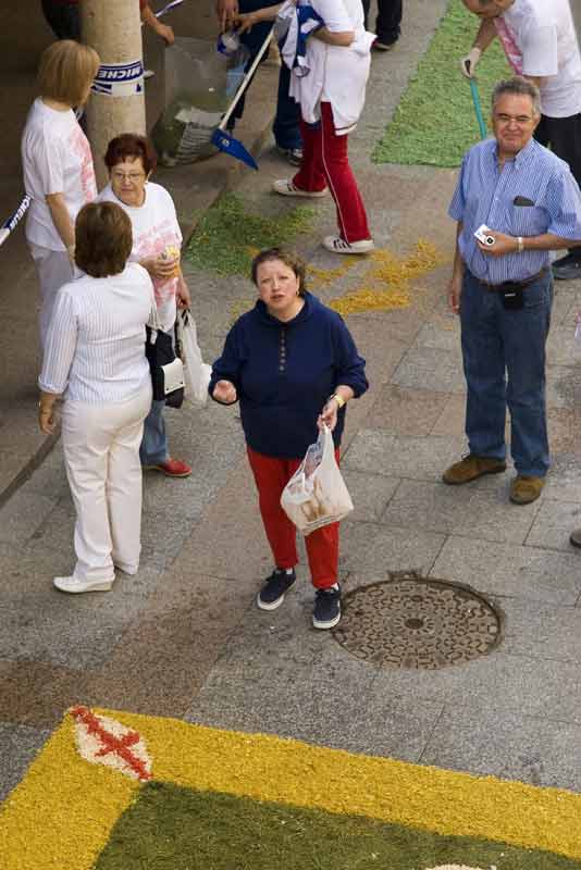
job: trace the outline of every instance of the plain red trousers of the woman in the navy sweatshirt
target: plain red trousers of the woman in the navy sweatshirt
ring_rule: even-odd
[[[248,461],[258,489],[260,515],[276,568],[294,568],[298,562],[297,530],[281,508],[283,489],[300,465],[300,459],[279,459],[247,448]],[[335,450],[338,462],[339,451]],[[327,588],[337,582],[338,523],[323,525],[305,538],[312,585]]]

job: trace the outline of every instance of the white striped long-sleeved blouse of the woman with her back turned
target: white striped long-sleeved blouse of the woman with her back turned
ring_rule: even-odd
[[[149,381],[145,326],[151,278],[137,263],[59,290],[38,378],[40,389],[89,405],[126,401]]]

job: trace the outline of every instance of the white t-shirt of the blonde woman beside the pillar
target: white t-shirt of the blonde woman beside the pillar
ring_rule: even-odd
[[[28,112],[21,151],[24,186],[33,197],[26,238],[41,248],[64,251],[45,197],[62,194],[74,223],[83,206],[97,196],[90,146],[73,110],[58,112],[36,99]]]

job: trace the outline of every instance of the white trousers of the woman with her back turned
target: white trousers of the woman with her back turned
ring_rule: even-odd
[[[141,550],[139,445],[151,407],[150,384],[107,405],[65,401],[62,442],[76,508],[73,576],[111,580],[114,567],[135,574]]]

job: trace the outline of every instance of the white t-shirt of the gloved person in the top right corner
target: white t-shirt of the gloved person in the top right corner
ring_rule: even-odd
[[[569,0],[515,0],[499,18],[498,36],[515,72],[544,79],[543,114],[581,112],[581,55]]]

